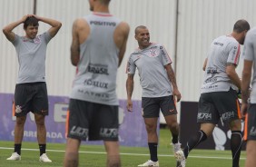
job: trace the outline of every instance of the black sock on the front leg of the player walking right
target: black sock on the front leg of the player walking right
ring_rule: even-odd
[[[241,154],[241,131],[231,132],[231,152],[233,167],[239,167],[239,159]]]

